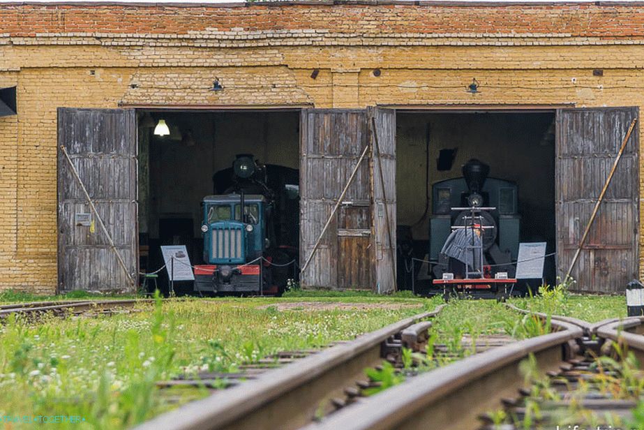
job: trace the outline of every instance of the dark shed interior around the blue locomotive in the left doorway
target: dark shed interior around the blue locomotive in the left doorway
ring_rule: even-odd
[[[264,230],[273,240],[270,246],[297,255],[290,247],[299,244],[299,111],[139,110],[137,119],[141,272],[163,266],[162,245],[186,245],[191,264],[206,263],[202,202],[208,195],[230,193],[232,165],[239,154],[266,166],[274,200],[271,216],[276,219]],[[169,135],[155,134],[161,120]],[[284,199],[297,205],[287,214]],[[159,275],[160,286],[167,288],[165,270]],[[190,292],[193,285],[188,282],[179,289]]]

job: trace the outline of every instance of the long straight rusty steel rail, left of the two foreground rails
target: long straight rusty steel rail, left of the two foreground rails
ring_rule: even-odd
[[[364,379],[364,369],[382,363],[382,345],[445,305],[322,350],[257,379],[186,404],[135,427],[136,430],[298,429],[310,423],[325,399],[347,381]]]

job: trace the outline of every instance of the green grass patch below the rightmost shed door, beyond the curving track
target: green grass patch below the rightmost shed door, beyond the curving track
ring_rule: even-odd
[[[541,295],[512,299],[511,303],[522,309],[569,316],[589,323],[627,316],[626,297],[623,295],[571,295],[564,285],[541,288]]]

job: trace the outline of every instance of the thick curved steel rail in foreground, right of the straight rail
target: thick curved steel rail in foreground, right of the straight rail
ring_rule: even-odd
[[[477,415],[525,383],[521,361],[533,354],[541,371],[554,371],[571,353],[569,342],[583,327],[552,320],[560,331],[472,355],[421,374],[365,401],[348,406],[307,430],[471,429]]]

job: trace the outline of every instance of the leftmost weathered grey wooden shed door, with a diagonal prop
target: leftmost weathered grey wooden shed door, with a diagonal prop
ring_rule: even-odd
[[[59,108],[58,142],[66,148],[128,274],[137,279],[135,111]],[[59,290],[133,290],[60,148],[58,229]]]

